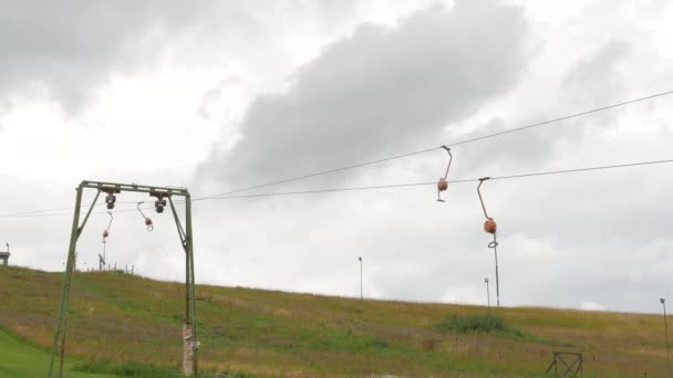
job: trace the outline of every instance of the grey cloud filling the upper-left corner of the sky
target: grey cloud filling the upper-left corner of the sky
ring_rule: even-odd
[[[113,72],[149,63],[162,49],[153,33],[180,29],[190,9],[175,1],[1,1],[0,96],[45,94],[74,112]]]

